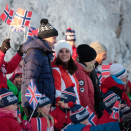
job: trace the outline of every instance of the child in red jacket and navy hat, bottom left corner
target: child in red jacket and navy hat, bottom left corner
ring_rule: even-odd
[[[33,131],[28,121],[17,117],[17,97],[0,85],[0,131]]]

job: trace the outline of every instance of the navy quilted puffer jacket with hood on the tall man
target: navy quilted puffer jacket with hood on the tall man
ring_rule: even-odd
[[[26,54],[22,67],[22,107],[29,106],[25,93],[31,79],[33,79],[38,91],[49,97],[51,102],[54,102],[55,86],[51,67],[53,51],[45,41],[37,36],[32,36],[26,41],[23,46],[23,53],[29,49],[31,50]]]

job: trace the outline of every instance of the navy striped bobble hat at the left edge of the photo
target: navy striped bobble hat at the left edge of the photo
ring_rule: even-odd
[[[3,84],[1,84],[0,89],[0,108],[18,103],[18,98],[8,89],[5,88]]]

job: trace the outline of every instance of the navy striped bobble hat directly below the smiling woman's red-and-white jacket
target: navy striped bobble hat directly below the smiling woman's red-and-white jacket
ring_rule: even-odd
[[[63,101],[65,103],[68,103],[72,101],[73,103],[76,102],[77,96],[74,91],[75,84],[72,83],[70,87],[66,88],[60,95],[60,101]]]

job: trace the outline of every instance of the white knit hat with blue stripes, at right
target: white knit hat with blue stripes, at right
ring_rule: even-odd
[[[110,75],[122,79],[126,76],[127,72],[123,65],[114,63],[110,66]]]

